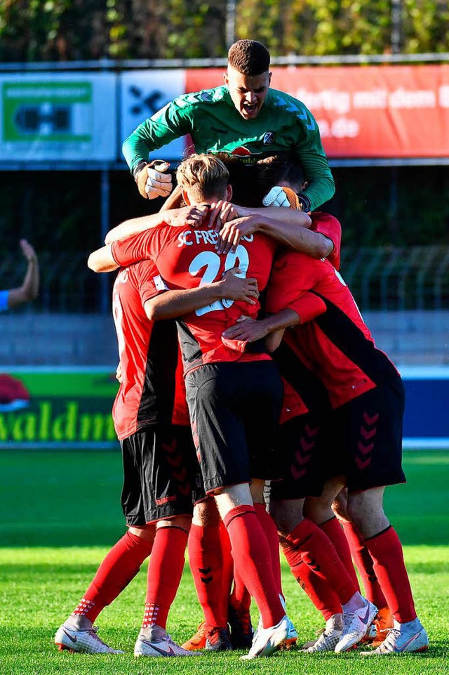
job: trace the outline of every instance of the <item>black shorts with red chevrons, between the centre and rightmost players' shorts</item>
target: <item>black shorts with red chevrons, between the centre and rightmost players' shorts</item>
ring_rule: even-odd
[[[319,497],[323,492],[323,424],[323,417],[311,412],[281,424],[278,443],[283,479],[270,485],[270,499]]]

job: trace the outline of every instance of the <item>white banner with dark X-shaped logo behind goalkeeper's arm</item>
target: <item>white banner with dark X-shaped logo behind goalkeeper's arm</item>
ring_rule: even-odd
[[[185,93],[185,70],[131,70],[120,76],[121,143],[147,117]],[[185,138],[177,138],[162,150],[152,151],[152,159],[182,159]]]

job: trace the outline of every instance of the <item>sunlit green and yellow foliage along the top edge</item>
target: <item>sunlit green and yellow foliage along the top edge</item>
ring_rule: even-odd
[[[225,56],[227,0],[3,0],[0,60]],[[273,55],[391,52],[391,0],[239,0],[235,37]],[[404,53],[446,52],[446,0],[402,0]]]

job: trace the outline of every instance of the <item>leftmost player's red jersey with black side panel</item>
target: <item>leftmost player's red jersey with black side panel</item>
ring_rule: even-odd
[[[114,283],[112,311],[121,384],[112,416],[119,440],[149,424],[168,424],[172,419],[178,352],[176,325],[174,321],[152,322],[144,310],[144,303],[163,290],[163,281],[152,261],[120,270]],[[177,391],[175,424],[185,420],[187,403],[182,396],[183,392]]]

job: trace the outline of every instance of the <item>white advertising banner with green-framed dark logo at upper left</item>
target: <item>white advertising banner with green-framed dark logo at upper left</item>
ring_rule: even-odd
[[[0,161],[115,161],[112,73],[0,76]]]

